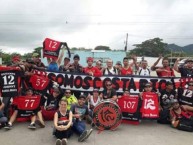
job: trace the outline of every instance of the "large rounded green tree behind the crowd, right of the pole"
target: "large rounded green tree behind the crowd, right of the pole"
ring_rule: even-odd
[[[152,56],[158,57],[159,54],[168,54],[167,43],[162,42],[163,39],[153,38],[142,42],[141,44],[134,44],[136,48],[130,51],[130,54],[137,56]]]

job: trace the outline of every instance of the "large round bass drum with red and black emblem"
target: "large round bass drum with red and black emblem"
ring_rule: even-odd
[[[99,130],[114,130],[121,121],[121,109],[112,100],[102,100],[93,110],[93,123]]]

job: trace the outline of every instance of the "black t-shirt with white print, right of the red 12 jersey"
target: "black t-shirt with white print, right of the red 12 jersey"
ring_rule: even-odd
[[[163,109],[169,109],[171,107],[171,100],[176,98],[176,91],[172,90],[171,92],[168,92],[166,90],[162,90],[160,96],[160,105]]]

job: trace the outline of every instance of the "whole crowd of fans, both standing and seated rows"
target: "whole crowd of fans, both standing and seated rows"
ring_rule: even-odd
[[[63,54],[63,53],[61,53]],[[12,58],[12,63],[6,67],[13,67],[23,73],[24,81],[22,83],[21,92],[25,96],[40,96],[40,104],[37,108],[30,112],[30,129],[35,129],[36,124],[40,127],[45,127],[42,107],[46,111],[54,111],[53,134],[56,136],[56,145],[67,144],[67,139],[73,134],[78,134],[78,141],[86,140],[92,133],[92,129],[86,129],[87,122],[92,124],[93,109],[101,100],[110,99],[114,102],[122,96],[130,96],[130,92],[124,89],[122,95],[117,95],[111,81],[105,82],[105,89],[99,92],[94,88],[92,92],[87,95],[74,95],[71,89],[66,88],[62,90],[56,82],[51,81],[51,89],[43,92],[38,92],[30,84],[30,77],[34,75],[34,70],[41,71],[55,71],[55,72],[72,72],[85,73],[90,76],[100,77],[102,75],[134,75],[133,66],[138,70],[138,75],[151,76],[151,71],[156,71],[159,77],[174,77],[174,70],[181,74],[181,77],[193,78],[193,60],[188,59],[185,65],[178,66],[179,59],[176,60],[174,67],[169,66],[169,60],[160,56],[153,66],[148,67],[146,60],[142,60],[140,64],[137,63],[136,57],[132,57],[133,63],[129,64],[129,58],[123,58],[123,65],[117,62],[113,66],[113,60],[108,59],[106,67],[102,67],[102,61],[96,61],[94,66],[94,59],[87,58],[88,66],[83,67],[79,64],[79,55],[74,55],[73,62],[70,63],[70,58],[64,58],[64,64],[61,65],[63,55],[58,59],[50,59],[48,67],[41,62],[39,54],[34,53],[32,59],[21,61],[18,56]],[[161,67],[157,67],[158,62],[162,59]],[[0,70],[1,71],[1,70]],[[153,90],[151,83],[144,84],[143,92],[139,93],[139,101],[143,100],[144,92],[153,92],[158,94],[160,117],[158,123],[171,124],[173,127],[193,131],[193,81],[189,81],[185,88],[175,89],[173,83],[168,81],[164,90]],[[1,96],[0,99],[0,125],[5,129],[11,129],[14,121],[22,113],[18,104],[12,103],[12,97]],[[13,98],[14,100],[14,98]],[[13,101],[14,102],[14,101]],[[10,108],[12,113],[10,115]],[[29,112],[28,112],[29,113]],[[188,125],[187,125],[188,124]],[[188,127],[184,127],[188,126]]]

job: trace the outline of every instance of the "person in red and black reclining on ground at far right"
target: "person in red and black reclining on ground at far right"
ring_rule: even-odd
[[[193,107],[180,105],[177,99],[171,100],[171,125],[174,128],[193,132]]]

